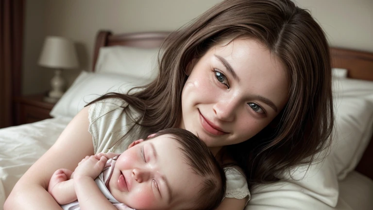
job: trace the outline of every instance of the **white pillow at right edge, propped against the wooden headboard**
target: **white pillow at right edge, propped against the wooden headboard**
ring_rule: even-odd
[[[332,155],[342,180],[353,171],[372,136],[373,82],[356,79],[333,80],[336,108]]]

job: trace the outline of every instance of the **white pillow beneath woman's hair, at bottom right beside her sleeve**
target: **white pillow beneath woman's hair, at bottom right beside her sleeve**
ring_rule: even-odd
[[[290,173],[291,177],[285,172],[280,181],[260,184],[252,189],[251,200],[245,210],[314,210],[323,209],[318,206],[337,205],[339,186],[330,156],[309,168],[294,167]]]

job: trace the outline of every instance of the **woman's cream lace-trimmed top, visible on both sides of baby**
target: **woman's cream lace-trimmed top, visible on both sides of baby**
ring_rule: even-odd
[[[130,118],[120,107],[120,105],[125,105],[124,103],[119,99],[105,99],[90,105],[88,131],[92,134],[95,154],[100,152],[122,153],[133,141],[126,138],[118,145],[113,146],[130,128]],[[245,198],[247,204],[251,195],[245,176],[234,167],[226,167],[224,171],[227,180],[225,197]]]

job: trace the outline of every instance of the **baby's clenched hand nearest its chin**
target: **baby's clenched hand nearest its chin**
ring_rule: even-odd
[[[100,175],[107,158],[105,156],[86,156],[76,167],[74,171],[74,178],[78,176],[89,176],[92,179]]]

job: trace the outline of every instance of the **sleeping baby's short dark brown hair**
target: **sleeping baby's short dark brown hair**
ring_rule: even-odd
[[[204,178],[202,188],[195,195],[195,205],[189,210],[213,210],[224,197],[225,173],[206,144],[193,133],[181,128],[167,128],[152,138],[169,134],[181,144],[186,163],[197,175]],[[152,139],[150,138],[150,139]]]

